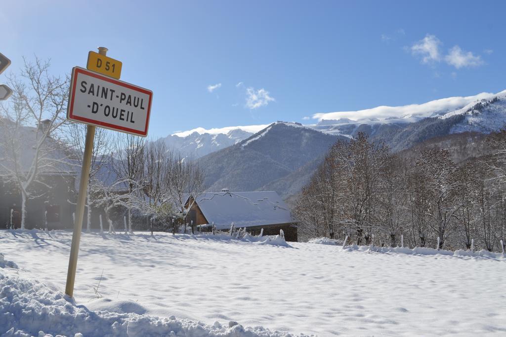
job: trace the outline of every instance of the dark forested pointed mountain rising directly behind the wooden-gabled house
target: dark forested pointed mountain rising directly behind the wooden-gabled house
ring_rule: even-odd
[[[276,122],[237,144],[200,159],[209,191],[276,189],[282,197],[297,192],[312,174],[308,165],[324,155],[341,136],[300,123]],[[298,172],[301,167],[308,167]],[[297,179],[290,175],[297,172]],[[307,173],[307,174],[306,174]],[[276,183],[279,179],[282,182]]]

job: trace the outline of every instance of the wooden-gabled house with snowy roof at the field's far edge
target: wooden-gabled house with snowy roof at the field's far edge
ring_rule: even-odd
[[[279,234],[282,229],[287,241],[297,241],[297,223],[290,209],[275,191],[204,192],[195,199],[188,197],[185,208],[190,207],[187,222],[194,225],[214,223],[219,230],[245,227],[252,234],[264,229],[265,235]]]

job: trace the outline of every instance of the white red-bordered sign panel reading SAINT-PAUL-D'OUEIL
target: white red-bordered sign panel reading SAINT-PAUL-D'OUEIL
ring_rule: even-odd
[[[67,119],[145,137],[152,97],[151,90],[74,67]]]

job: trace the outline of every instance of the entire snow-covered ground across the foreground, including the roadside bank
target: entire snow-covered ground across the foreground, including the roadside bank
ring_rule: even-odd
[[[64,231],[0,231],[0,334],[38,333],[35,318],[46,333],[85,336],[97,335],[91,323],[110,335],[506,334],[502,254],[83,233],[73,304],[61,293],[70,242]],[[6,312],[27,302],[11,326]],[[71,327],[50,324],[58,311]]]

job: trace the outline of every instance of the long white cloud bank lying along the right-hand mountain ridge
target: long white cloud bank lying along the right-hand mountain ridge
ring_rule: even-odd
[[[503,91],[502,93],[506,92]],[[466,105],[485,98],[489,98],[493,93],[482,92],[474,96],[467,97],[450,97],[441,100],[435,100],[424,104],[410,104],[398,107],[381,106],[372,109],[358,110],[358,111],[339,111],[330,113],[314,114],[313,118],[322,120],[338,120],[341,118],[349,118],[357,121],[367,118],[377,118],[384,120],[387,118],[409,118],[409,117],[430,117],[435,114],[450,112],[453,110],[461,109]]]

